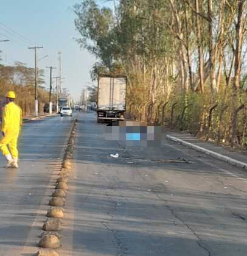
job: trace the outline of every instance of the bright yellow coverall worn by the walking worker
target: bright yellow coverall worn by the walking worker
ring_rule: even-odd
[[[3,155],[9,155],[10,152],[13,158],[18,158],[18,137],[22,125],[22,110],[14,102],[5,105],[2,111],[2,132],[4,137],[0,140],[0,151]],[[7,146],[9,145],[9,149]]]

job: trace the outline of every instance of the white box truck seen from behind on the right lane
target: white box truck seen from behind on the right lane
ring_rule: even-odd
[[[124,120],[126,110],[126,76],[98,76],[97,122]]]

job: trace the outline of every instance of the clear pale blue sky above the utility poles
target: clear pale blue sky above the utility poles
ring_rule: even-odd
[[[58,68],[58,51],[62,52],[62,87],[68,88],[77,100],[80,91],[87,82],[91,82],[89,71],[95,62],[86,50],[80,50],[74,38],[78,33],[74,27],[72,7],[80,0],[1,0],[0,40],[8,38],[7,43],[0,43],[3,64],[20,61],[27,66],[34,66],[34,51],[27,49],[38,44],[44,49],[38,50],[38,59],[49,55],[38,63],[39,68],[56,66]],[[104,1],[99,1],[100,5]],[[15,30],[27,39],[15,33],[9,34],[1,23]],[[4,30],[6,29],[6,30]],[[11,32],[12,33],[12,32]],[[30,40],[30,41],[29,41]],[[46,87],[49,87],[49,69],[45,71]],[[54,70],[58,76],[58,69]],[[54,83],[55,84],[55,83]]]

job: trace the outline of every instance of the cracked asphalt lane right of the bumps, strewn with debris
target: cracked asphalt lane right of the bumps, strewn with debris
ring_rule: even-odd
[[[246,172],[166,140],[106,140],[96,115],[78,119],[60,255],[247,255]]]

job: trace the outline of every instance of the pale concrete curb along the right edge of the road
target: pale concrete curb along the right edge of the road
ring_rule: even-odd
[[[194,149],[195,151],[203,152],[206,155],[210,155],[211,157],[214,157],[214,158],[217,158],[221,161],[229,163],[230,165],[234,165],[234,166],[238,166],[238,167],[243,168],[243,169],[247,169],[247,163],[235,160],[234,158],[226,157],[226,155],[222,155],[222,154],[219,154],[217,152],[210,151],[209,149],[202,148],[200,146],[197,146],[195,144],[189,143],[187,141],[181,140],[179,138],[176,138],[176,137],[173,137],[173,136],[170,136],[170,135],[166,135],[166,138],[168,140],[172,140],[172,141],[175,141],[179,144],[182,144],[183,146],[187,146],[191,149]]]

